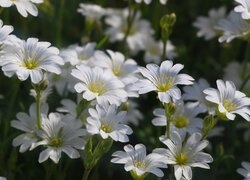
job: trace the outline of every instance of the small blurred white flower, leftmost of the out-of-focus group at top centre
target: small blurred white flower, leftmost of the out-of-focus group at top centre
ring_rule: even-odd
[[[98,5],[80,3],[77,12],[81,13],[89,21],[100,20],[105,15],[105,9]]]

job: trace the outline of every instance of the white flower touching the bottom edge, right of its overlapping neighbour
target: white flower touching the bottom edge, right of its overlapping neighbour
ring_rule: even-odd
[[[170,139],[165,136],[160,137],[160,141],[164,143],[168,149],[157,148],[153,153],[162,155],[162,161],[166,164],[173,164],[175,178],[180,180],[182,176],[186,179],[192,179],[191,167],[201,167],[209,169],[207,163],[213,161],[212,156],[201,152],[207,145],[207,140],[201,141],[201,134],[194,133],[187,142],[182,145],[182,140],[177,132],[170,134]]]

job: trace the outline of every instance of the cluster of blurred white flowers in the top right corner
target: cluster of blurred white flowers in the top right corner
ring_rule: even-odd
[[[211,9],[209,17],[198,17],[194,26],[199,29],[198,37],[204,36],[206,40],[219,35],[219,42],[229,43],[235,38],[249,40],[250,19],[249,0],[235,0],[239,5],[225,18],[226,9]]]

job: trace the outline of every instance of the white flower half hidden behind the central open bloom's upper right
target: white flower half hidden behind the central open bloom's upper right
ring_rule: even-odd
[[[125,57],[120,52],[107,50],[107,56],[104,52],[98,51],[95,53],[94,65],[108,69],[114,76],[121,80],[124,85],[130,84],[138,80],[136,72],[138,69],[137,63],[133,59],[125,60]]]

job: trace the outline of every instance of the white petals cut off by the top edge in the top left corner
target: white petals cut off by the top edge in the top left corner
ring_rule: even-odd
[[[27,17],[28,13],[30,13],[32,16],[37,16],[38,10],[33,3],[40,4],[43,3],[43,0],[1,0],[0,6],[10,7],[15,5],[18,12],[23,17]]]

